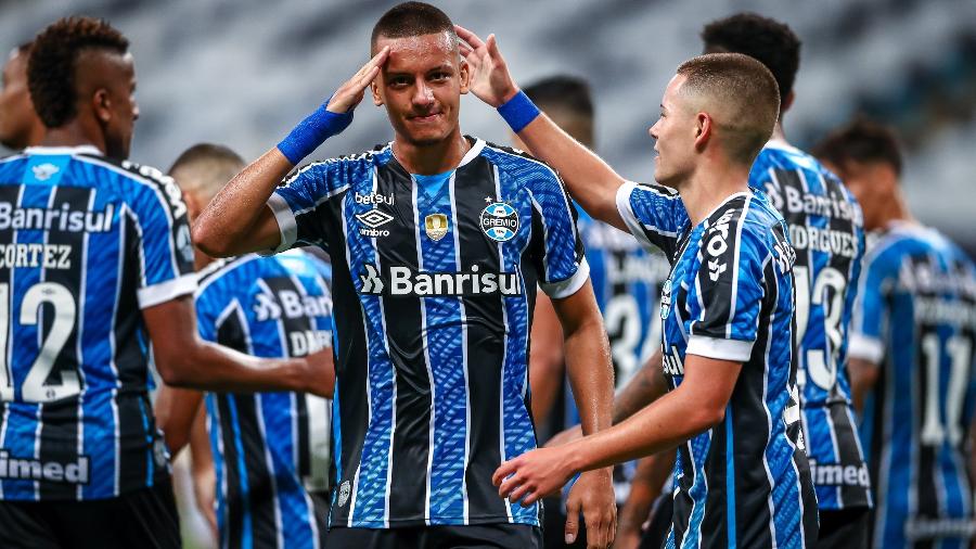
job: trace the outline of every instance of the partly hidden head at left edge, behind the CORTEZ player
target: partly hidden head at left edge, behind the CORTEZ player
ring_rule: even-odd
[[[30,92],[27,90],[27,59],[30,42],[23,43],[10,52],[3,65],[3,88],[0,89],[0,144],[20,151],[25,146],[40,143],[44,135]]]

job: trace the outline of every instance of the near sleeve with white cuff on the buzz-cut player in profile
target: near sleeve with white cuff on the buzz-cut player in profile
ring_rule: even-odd
[[[733,212],[727,224],[723,215],[702,237],[685,330],[689,354],[745,362],[757,339],[767,285],[780,286],[763,277],[771,260],[767,237],[744,220],[743,210],[725,215]]]

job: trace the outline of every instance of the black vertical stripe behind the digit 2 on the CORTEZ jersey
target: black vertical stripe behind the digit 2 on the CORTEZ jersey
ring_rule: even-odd
[[[89,201],[94,190],[85,187],[56,187],[51,201],[51,209],[61,210],[67,206],[72,210],[88,210]],[[56,227],[47,233],[47,243],[51,245],[70,246],[70,267],[67,269],[44,269],[43,281],[61,284],[75,299],[75,319],[70,333],[57,357],[44,384],[60,384],[65,376],[74,375],[81,380],[80,358],[78,356],[78,321],[85,311],[81,308],[82,267],[85,266],[85,233],[60,231]],[[44,340],[50,336],[54,324],[54,306],[44,304],[43,327],[41,333]],[[82,385],[84,388],[84,385]],[[78,456],[78,397],[72,397],[41,406],[41,434],[39,459],[48,461],[74,461]],[[40,484],[41,499],[74,499],[77,487],[67,483],[42,482]]]

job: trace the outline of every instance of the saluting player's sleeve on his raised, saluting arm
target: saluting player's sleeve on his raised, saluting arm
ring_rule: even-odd
[[[298,246],[325,247],[328,202],[349,189],[357,176],[369,177],[370,164],[334,158],[310,164],[271,194],[268,207],[278,221],[281,244],[271,255]]]

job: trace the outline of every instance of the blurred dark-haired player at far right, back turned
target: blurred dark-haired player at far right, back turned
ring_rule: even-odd
[[[858,120],[814,151],[861,203],[865,229],[878,231],[848,349],[876,489],[872,547],[971,547],[976,267],[912,217],[890,129]]]

